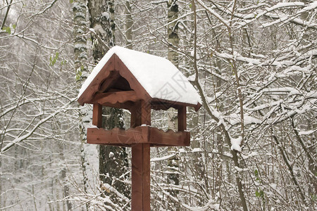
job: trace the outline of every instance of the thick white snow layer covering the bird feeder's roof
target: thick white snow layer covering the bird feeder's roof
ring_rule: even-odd
[[[201,98],[192,84],[169,60],[120,46],[111,48],[99,61],[84,84],[82,84],[78,98],[114,53],[123,61],[151,98],[194,105],[197,103],[201,104]]]

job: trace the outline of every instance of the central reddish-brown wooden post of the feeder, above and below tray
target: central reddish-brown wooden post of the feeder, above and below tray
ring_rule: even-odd
[[[142,101],[131,113],[131,126],[151,125],[151,106]],[[141,108],[140,108],[141,107]],[[133,115],[133,116],[132,116]],[[150,210],[150,144],[132,146],[132,211]]]

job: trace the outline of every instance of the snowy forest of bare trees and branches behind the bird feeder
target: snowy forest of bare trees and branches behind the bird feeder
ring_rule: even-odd
[[[0,210],[130,210],[130,149],[85,144],[76,101],[114,45],[168,58],[203,102],[191,146],[151,149],[151,210],[317,210],[316,16],[306,0],[1,0]],[[107,108],[104,127],[129,118]]]

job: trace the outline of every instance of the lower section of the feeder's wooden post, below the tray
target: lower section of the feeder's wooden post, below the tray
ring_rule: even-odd
[[[150,210],[150,144],[132,146],[132,211]]]

